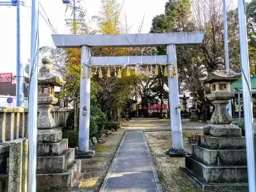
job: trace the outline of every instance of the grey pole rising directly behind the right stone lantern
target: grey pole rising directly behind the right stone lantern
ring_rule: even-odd
[[[223,0],[223,33],[224,33],[225,67],[226,67],[226,70],[229,70],[226,0]],[[231,100],[229,100],[229,103],[227,104],[227,109],[230,117],[232,118]]]

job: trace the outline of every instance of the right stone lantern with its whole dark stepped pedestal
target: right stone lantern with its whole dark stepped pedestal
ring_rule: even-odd
[[[230,82],[239,79],[240,73],[226,70],[223,58],[215,59],[215,70],[201,78],[210,84],[207,98],[215,109],[211,123],[204,127],[197,144],[191,144],[191,155],[185,156],[184,172],[203,191],[247,191],[245,137],[241,129],[232,124],[226,109],[234,97]]]

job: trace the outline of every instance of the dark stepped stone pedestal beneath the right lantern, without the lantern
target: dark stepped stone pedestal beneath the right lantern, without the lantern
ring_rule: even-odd
[[[192,154],[185,156],[184,172],[203,191],[247,191],[245,137],[233,124],[207,125]]]

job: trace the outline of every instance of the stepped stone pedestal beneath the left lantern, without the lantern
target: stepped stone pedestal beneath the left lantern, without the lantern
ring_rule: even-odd
[[[81,161],[60,129],[38,130],[36,171],[37,191],[68,191],[76,184]]]

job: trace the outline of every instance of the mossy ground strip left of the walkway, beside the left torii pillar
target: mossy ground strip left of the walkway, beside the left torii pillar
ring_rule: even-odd
[[[109,166],[115,156],[124,130],[112,132],[112,135],[104,138],[103,143],[95,147],[96,155],[92,159],[82,160],[82,173],[78,192],[98,192]]]

